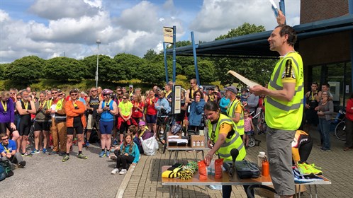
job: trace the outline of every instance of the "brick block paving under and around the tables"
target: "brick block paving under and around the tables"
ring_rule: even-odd
[[[308,159],[309,163],[315,163],[323,168],[323,175],[332,181],[332,185],[318,186],[318,197],[353,197],[353,151],[343,151],[344,141],[331,136],[332,151],[322,152],[316,145],[320,141],[318,132],[311,132],[314,146]],[[264,135],[257,135],[262,140],[259,146],[247,149],[247,159],[257,162],[259,151],[266,150]],[[187,163],[193,161],[196,153],[179,152],[179,161]],[[201,153],[198,153],[201,158]],[[169,152],[158,152],[155,156],[142,156],[134,170],[129,170],[125,176],[117,197],[169,197],[169,188],[162,186],[161,167],[169,164]],[[204,186],[182,186],[179,197],[221,197],[219,190],[211,190]],[[242,187],[232,187],[232,197],[246,197]],[[310,197],[304,193],[302,197]]]

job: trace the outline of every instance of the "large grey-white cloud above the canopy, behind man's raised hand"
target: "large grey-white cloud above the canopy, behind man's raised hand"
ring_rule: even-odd
[[[293,12],[298,13],[300,1],[289,2],[287,23],[298,25],[298,18],[292,20],[291,16]],[[210,41],[243,23],[263,25],[267,30],[272,30],[276,26],[276,19],[269,1],[204,0],[201,11],[191,21],[189,29],[195,31],[198,40]]]

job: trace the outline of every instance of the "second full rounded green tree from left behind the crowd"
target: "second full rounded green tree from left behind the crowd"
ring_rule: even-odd
[[[79,81],[86,74],[86,66],[82,66],[82,62],[77,61],[77,59],[55,57],[47,60],[44,73],[47,79]]]

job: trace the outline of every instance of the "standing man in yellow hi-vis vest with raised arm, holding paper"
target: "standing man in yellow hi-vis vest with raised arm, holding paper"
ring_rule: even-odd
[[[274,188],[281,197],[295,193],[291,168],[291,141],[303,117],[303,62],[294,50],[296,31],[284,25],[285,16],[279,11],[279,25],[269,36],[269,48],[279,52],[268,88],[250,88],[256,95],[267,95],[265,100],[267,123],[267,153]]]

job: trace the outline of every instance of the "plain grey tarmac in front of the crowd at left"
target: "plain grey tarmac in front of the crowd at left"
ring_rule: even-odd
[[[84,148],[88,159],[77,158],[77,146],[69,161],[62,156],[38,153],[24,157],[26,168],[14,170],[12,177],[0,182],[2,197],[116,197],[124,175],[111,175],[115,162],[99,158],[101,149]]]

